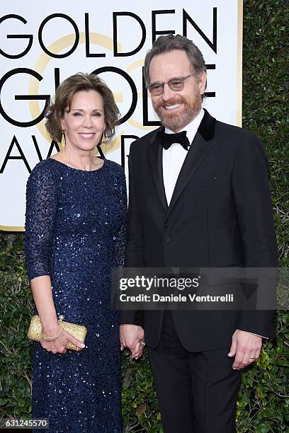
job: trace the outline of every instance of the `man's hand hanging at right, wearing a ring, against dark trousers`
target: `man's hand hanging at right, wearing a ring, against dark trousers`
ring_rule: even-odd
[[[228,357],[235,357],[233,369],[244,369],[260,356],[262,337],[236,329]]]

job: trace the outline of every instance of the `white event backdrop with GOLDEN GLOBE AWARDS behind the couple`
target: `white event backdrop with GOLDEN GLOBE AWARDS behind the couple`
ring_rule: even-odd
[[[186,35],[208,69],[204,106],[241,125],[242,1],[7,1],[0,18],[0,229],[22,231],[25,190],[36,163],[58,145],[45,130],[45,106],[58,84],[78,71],[99,74],[121,112],[107,158],[125,170],[130,143],[159,125],[142,67],[152,42]]]

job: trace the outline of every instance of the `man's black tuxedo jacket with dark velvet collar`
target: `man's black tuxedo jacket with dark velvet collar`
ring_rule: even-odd
[[[158,129],[157,129],[158,130]],[[169,207],[157,130],[130,146],[126,267],[277,267],[268,161],[251,132],[205,115]],[[163,311],[120,311],[157,347]],[[273,337],[272,311],[172,311],[192,352],[229,347],[236,328]]]

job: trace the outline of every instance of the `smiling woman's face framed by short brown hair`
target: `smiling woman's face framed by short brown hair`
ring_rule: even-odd
[[[106,128],[103,98],[96,91],[74,93],[69,112],[61,120],[67,146],[91,151]]]

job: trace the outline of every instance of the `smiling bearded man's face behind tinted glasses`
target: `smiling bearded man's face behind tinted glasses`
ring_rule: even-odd
[[[173,50],[152,58],[149,65],[149,79],[152,83],[164,84],[162,95],[152,95],[152,105],[162,125],[174,132],[186,127],[200,112],[201,95],[205,92],[206,74],[190,76],[183,84],[183,90],[173,91],[167,81],[187,76],[193,71],[188,56],[183,50]]]

